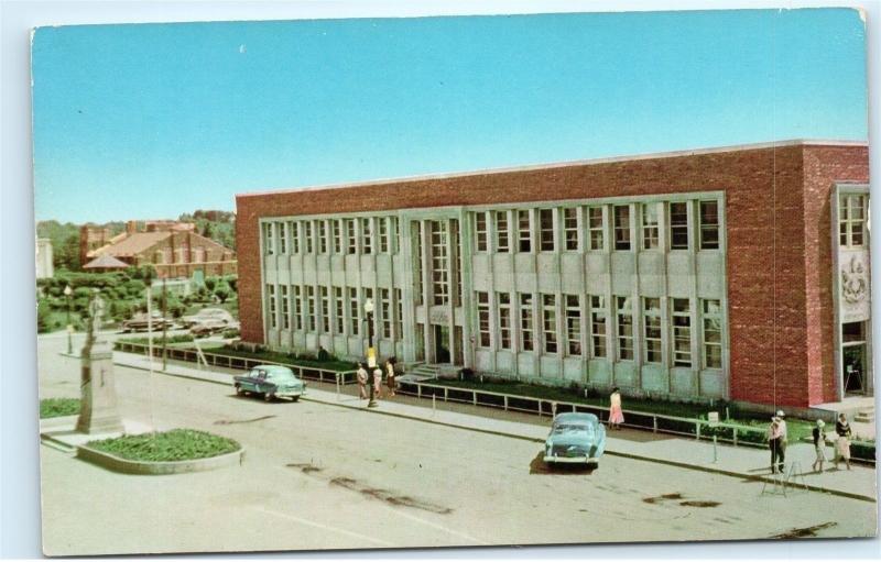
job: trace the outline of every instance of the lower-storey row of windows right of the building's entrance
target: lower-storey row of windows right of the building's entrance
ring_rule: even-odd
[[[497,293],[494,309],[490,306],[490,295],[477,291],[477,328],[478,346],[512,350],[512,295]],[[644,363],[662,363],[662,324],[661,299],[643,297],[641,309],[634,310],[631,297],[612,297],[607,307],[606,297],[599,295],[533,295],[516,294],[519,304],[519,350],[536,351],[535,331],[542,332],[544,353],[564,354],[584,357],[608,357],[618,361],[633,361],[633,315],[643,318],[642,350]],[[581,315],[581,298],[586,300],[587,317]],[[692,357],[692,339],[698,333],[692,327],[692,301],[687,298],[671,298],[670,323],[666,327],[671,342],[671,359],[675,366],[690,367],[695,363]],[[703,346],[701,366],[704,368],[721,368],[721,306],[718,299],[700,299],[700,330]],[[494,310],[494,312],[493,312]],[[536,326],[535,318],[541,320]],[[563,315],[563,332],[557,330],[557,317]],[[612,320],[610,322],[610,319]],[[614,329],[617,343],[614,350],[608,350],[607,335]],[[583,333],[584,332],[584,333]],[[581,337],[589,350],[584,350]],[[588,351],[588,353],[585,353]],[[610,353],[611,352],[611,353]]]

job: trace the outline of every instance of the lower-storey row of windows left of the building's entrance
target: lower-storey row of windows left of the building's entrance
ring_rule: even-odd
[[[275,285],[268,284],[269,327],[272,330],[367,337],[367,328],[361,322],[362,319],[366,320],[363,304],[368,299],[372,300],[373,294],[371,287],[361,288],[359,295],[356,287],[320,286],[316,290],[312,285],[279,285],[276,288]],[[378,294],[379,301],[373,312],[377,335],[391,339],[394,334],[396,339],[401,339],[404,311],[401,289],[380,288]]]

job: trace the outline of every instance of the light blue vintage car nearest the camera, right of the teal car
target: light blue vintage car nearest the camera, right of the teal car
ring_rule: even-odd
[[[598,464],[606,449],[606,428],[592,414],[567,412],[554,418],[544,462]]]

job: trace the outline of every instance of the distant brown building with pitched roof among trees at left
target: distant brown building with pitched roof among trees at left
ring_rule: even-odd
[[[152,265],[160,278],[230,275],[237,271],[236,253],[196,234],[191,222],[148,221],[140,231],[135,221],[129,221],[126,232],[109,234],[108,229],[81,228],[80,260],[86,267],[112,265],[115,262],[107,260],[112,257],[126,266]]]

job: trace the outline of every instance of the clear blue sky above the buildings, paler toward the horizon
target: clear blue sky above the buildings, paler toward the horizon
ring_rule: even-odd
[[[786,139],[866,140],[857,11],[41,27],[37,220]]]

